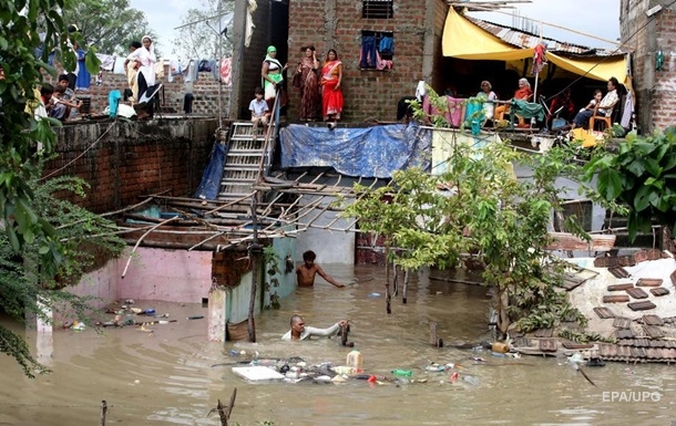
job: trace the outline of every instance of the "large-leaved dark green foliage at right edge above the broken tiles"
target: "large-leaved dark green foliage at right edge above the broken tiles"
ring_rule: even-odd
[[[616,152],[598,149],[585,166],[584,179],[607,201],[628,207],[628,232],[649,232],[653,220],[676,226],[676,127],[645,137],[627,135]]]

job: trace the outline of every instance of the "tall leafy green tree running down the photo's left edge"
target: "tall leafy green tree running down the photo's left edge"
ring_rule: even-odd
[[[76,309],[82,306],[81,300],[71,299],[54,283],[57,277],[76,274],[81,268],[78,262],[85,257],[74,249],[83,238],[68,232],[73,226],[86,232],[88,224],[96,222],[84,216],[80,217],[83,221],[61,221],[75,209],[63,210],[65,205],[61,205],[62,210],[49,209],[47,206],[57,202],[51,200],[51,186],[38,183],[40,157],[53,150],[52,126],[59,123],[34,117],[40,104],[37,89],[43,82],[43,72],[55,73],[44,62],[49,52],[55,51],[65,67],[74,67],[75,55],[61,18],[70,4],[65,0],[0,0],[0,66],[4,74],[0,80],[0,308],[18,319],[25,311],[40,314],[39,300],[64,300]],[[39,50],[42,55],[37,58]],[[99,66],[94,53],[90,49],[86,55],[90,71]],[[66,186],[76,190],[78,185],[72,181]],[[7,329],[0,329],[0,352],[14,356],[29,375],[30,367],[37,366],[25,342]]]

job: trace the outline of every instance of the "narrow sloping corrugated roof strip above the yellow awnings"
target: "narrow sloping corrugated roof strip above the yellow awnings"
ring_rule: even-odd
[[[512,27],[483,21],[481,19],[472,18],[467,14],[464,14],[464,17],[477,25],[481,27],[483,30],[490,32],[491,34],[498,37],[505,43],[509,43],[513,46],[530,49],[534,48],[540,42],[539,35]],[[607,49],[597,49],[580,44],[565,43],[546,37],[543,37],[542,40],[544,40],[544,42],[547,44],[547,51],[554,53],[564,53],[567,55],[576,56],[610,56],[612,54],[618,54],[618,52],[613,52]]]

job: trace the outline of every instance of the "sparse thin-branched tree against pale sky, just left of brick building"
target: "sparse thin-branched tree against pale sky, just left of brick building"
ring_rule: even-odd
[[[234,0],[199,0],[201,8],[188,9],[181,22],[178,37],[173,40],[173,53],[184,58],[222,58],[232,55],[229,33],[219,35],[226,27],[226,13],[235,10]],[[225,28],[224,28],[225,27]]]

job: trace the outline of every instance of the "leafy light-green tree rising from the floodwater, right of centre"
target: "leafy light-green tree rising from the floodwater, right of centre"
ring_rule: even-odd
[[[528,155],[504,142],[484,148],[453,144],[449,172],[431,176],[411,168],[378,189],[356,186],[357,198],[345,202],[344,215],[357,217],[361,230],[383,235],[397,248],[390,260],[404,269],[447,269],[467,257],[483,264],[502,333],[514,322],[522,331],[550,328],[569,314],[582,323],[556,291],[566,264],[547,250],[552,215],[562,210],[556,179],[582,176],[572,157],[563,147]],[[513,164],[530,167],[532,178],[518,179]],[[565,229],[588,239],[574,216]]]

